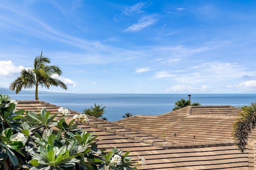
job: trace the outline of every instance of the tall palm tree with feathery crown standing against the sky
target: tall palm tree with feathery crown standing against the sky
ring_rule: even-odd
[[[50,86],[60,86],[61,88],[67,90],[66,84],[55,76],[56,74],[60,76],[62,70],[58,66],[48,66],[50,59],[44,55],[36,56],[34,59],[34,68],[22,69],[20,76],[17,77],[9,86],[10,90],[18,94],[22,88],[34,88],[36,87],[35,98],[38,100],[38,86],[47,87]]]

